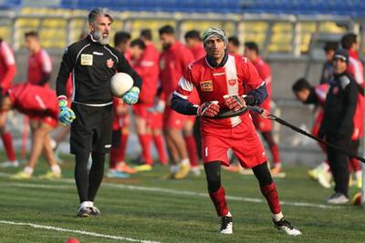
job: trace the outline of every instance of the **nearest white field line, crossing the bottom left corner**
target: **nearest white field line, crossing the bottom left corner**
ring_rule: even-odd
[[[42,228],[42,229],[55,230],[55,231],[60,231],[60,232],[76,233],[76,234],[96,237],[96,238],[111,238],[111,239],[125,240],[125,241],[130,241],[130,242],[141,242],[141,243],[160,243],[159,241],[111,236],[111,235],[104,235],[104,234],[99,234],[99,233],[89,232],[89,231],[84,231],[84,230],[57,228],[57,227],[53,227],[53,226],[36,225],[36,224],[32,224],[32,223],[18,223],[18,222],[7,221],[7,220],[0,220],[0,224],[14,225],[14,226],[28,226],[28,227],[32,227],[32,228]]]

